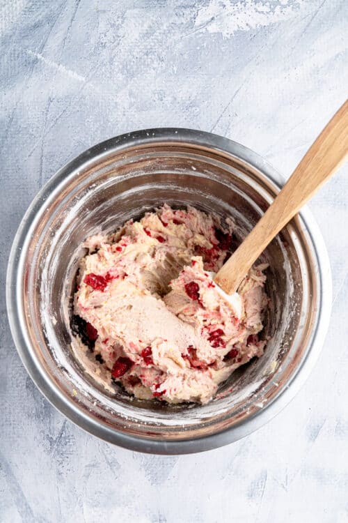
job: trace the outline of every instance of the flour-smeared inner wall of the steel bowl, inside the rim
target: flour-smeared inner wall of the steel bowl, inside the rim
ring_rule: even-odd
[[[79,245],[87,236],[111,232],[166,202],[232,216],[241,240],[277,192],[251,163],[197,144],[145,143],[83,158],[42,202],[23,259],[26,329],[44,379],[93,423],[157,440],[221,432],[273,402],[305,357],[315,322],[313,257],[299,217],[262,255],[269,264],[265,354],[232,374],[207,405],[136,400],[117,386],[106,391],[72,355],[70,317],[77,262],[84,255]]]

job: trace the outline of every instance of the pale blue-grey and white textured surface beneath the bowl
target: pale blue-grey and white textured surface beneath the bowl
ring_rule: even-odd
[[[348,521],[347,167],[310,203],[333,269],[319,363],[236,444],[159,457],[85,434],[27,377],[3,297],[29,202],[107,137],[210,130],[289,175],[347,95],[347,15],[347,0],[1,3],[1,522]]]

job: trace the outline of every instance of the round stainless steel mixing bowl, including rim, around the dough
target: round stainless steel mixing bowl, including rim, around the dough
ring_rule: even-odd
[[[8,315],[35,384],[70,420],[96,436],[150,453],[228,444],[270,420],[313,367],[329,324],[331,275],[308,210],[262,256],[271,305],[264,356],[232,374],[207,405],[170,406],[104,391],[70,349],[70,306],[79,245],[167,202],[235,218],[239,238],[283,180],[244,146],[206,132],[150,129],[109,139],[63,167],[35,197],[13,243]]]

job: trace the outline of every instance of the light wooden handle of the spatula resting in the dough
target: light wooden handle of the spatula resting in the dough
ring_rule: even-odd
[[[214,280],[224,291],[237,291],[262,251],[338,169],[347,153],[348,101],[338,109],[257,225],[216,274]]]

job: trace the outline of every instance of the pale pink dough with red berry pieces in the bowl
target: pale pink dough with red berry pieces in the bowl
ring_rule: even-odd
[[[251,268],[232,308],[207,273],[232,252],[233,227],[165,204],[88,238],[72,342],[84,370],[110,391],[116,381],[138,398],[204,404],[237,367],[262,356],[266,265]]]

